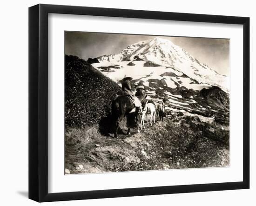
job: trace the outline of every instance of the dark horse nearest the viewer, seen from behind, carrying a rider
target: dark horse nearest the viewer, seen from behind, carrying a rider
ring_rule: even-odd
[[[144,96],[137,96],[137,98],[141,101],[141,107],[144,109],[146,105],[146,97],[147,95]],[[126,96],[126,95],[119,95],[118,97],[115,98],[115,100],[112,101],[112,120],[113,120],[113,128],[114,128],[114,134],[115,137],[117,137],[117,131],[119,128],[119,123],[122,121],[122,119],[125,116],[131,116],[130,112],[135,109],[135,105],[132,102],[132,100]],[[138,111],[135,110],[133,118],[135,118],[136,121],[136,126],[137,126],[137,131],[139,132],[139,127],[138,127]],[[127,134],[130,134],[130,118],[128,118],[128,132]]]

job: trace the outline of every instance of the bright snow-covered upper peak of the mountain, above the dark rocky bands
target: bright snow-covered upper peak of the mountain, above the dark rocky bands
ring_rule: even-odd
[[[182,72],[198,83],[219,86],[222,90],[229,92],[229,78],[227,76],[221,75],[209,66],[200,63],[170,40],[156,37],[152,40],[140,41],[128,46],[120,53],[104,55],[97,59],[101,63],[118,64],[122,61],[133,61],[135,57],[167,67],[167,70]],[[132,75],[132,73],[130,74]]]

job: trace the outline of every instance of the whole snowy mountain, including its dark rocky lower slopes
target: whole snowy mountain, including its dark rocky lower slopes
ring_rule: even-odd
[[[96,59],[91,65],[120,86],[131,76],[133,87],[143,85],[149,99],[167,98],[170,112],[229,123],[229,78],[169,40],[140,41]]]

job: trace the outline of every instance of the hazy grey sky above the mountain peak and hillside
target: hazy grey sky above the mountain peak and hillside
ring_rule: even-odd
[[[119,53],[131,44],[155,37],[171,40],[175,45],[182,47],[199,60],[200,63],[208,65],[220,74],[229,76],[229,40],[227,39],[66,32],[65,54],[76,55],[87,60],[89,57]]]

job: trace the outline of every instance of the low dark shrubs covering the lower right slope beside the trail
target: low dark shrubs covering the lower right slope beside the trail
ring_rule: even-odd
[[[221,166],[223,149],[229,146],[204,136],[199,128],[168,124],[167,130],[155,136],[153,149],[157,156],[166,159],[170,168]],[[159,149],[161,148],[161,149]],[[148,152],[148,151],[147,151]],[[152,153],[152,151],[151,151]]]

